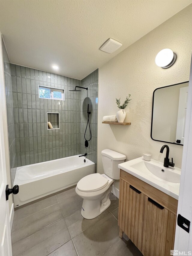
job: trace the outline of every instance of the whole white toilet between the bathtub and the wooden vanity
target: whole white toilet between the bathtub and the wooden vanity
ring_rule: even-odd
[[[93,219],[106,210],[111,201],[109,195],[114,180],[120,178],[118,164],[125,162],[126,156],[110,149],[101,152],[105,174],[94,173],[85,176],[76,186],[76,193],[83,198],[81,214]]]

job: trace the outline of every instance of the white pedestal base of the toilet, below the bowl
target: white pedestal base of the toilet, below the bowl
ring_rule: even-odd
[[[101,203],[101,199],[98,200],[83,200],[81,209],[81,215],[85,219],[93,219],[104,212],[111,204],[111,200],[108,198],[107,202]]]

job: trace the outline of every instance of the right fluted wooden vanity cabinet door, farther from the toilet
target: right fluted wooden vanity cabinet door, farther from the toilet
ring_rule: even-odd
[[[165,255],[168,210],[145,196],[142,253],[145,256]]]

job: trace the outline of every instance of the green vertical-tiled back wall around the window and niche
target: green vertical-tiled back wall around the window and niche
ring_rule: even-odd
[[[11,64],[17,167],[79,154],[81,81]],[[42,99],[38,85],[65,90],[65,101]],[[47,112],[59,113],[60,129],[47,130]]]

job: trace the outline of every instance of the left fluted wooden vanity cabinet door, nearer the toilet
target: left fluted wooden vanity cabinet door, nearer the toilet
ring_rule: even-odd
[[[119,227],[141,251],[145,195],[120,179]]]

